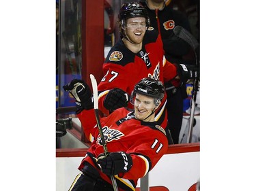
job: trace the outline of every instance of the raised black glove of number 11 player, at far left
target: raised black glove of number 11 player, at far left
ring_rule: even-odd
[[[63,89],[70,92],[74,99],[76,99],[76,107],[78,109],[76,114],[79,114],[83,109],[88,110],[94,108],[91,90],[83,80],[74,79],[63,86]]]

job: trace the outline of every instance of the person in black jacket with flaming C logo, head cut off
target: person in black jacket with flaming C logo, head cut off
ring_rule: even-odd
[[[192,61],[184,59],[188,55],[190,46],[186,41],[176,37],[173,33],[175,26],[179,25],[190,31],[188,18],[177,10],[173,10],[171,5],[166,4],[165,0],[147,0],[142,4],[147,9],[147,14],[150,17],[150,25],[156,29],[162,38],[165,57],[171,63],[189,64]],[[194,64],[195,65],[195,64]],[[183,99],[186,99],[186,84],[180,87],[174,87],[172,84],[165,84],[167,91],[167,114],[169,129],[173,143],[179,143],[180,129],[182,128],[183,119]]]

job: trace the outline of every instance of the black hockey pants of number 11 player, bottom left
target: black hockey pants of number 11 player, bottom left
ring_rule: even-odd
[[[90,164],[86,164],[83,173],[77,177],[69,191],[113,191],[113,186],[101,179],[98,171]]]

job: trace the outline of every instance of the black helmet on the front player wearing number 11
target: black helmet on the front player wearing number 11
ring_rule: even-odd
[[[130,99],[132,104],[134,104],[134,96],[137,93],[161,101],[165,96],[165,88],[162,82],[154,80],[151,77],[145,77],[134,86]],[[158,101],[156,101],[156,103],[158,103]]]

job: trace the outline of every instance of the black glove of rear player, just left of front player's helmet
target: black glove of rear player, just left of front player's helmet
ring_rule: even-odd
[[[109,111],[114,111],[120,107],[127,107],[128,105],[128,94],[119,88],[114,88],[106,94],[103,105]]]

